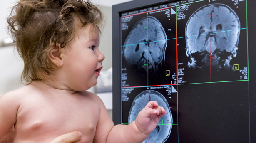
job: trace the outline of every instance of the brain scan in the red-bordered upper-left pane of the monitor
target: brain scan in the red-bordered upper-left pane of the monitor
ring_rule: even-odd
[[[149,73],[156,73],[162,68],[167,35],[155,17],[148,16],[139,20],[132,27],[124,45],[123,55],[129,66],[143,68],[146,72],[149,70]]]

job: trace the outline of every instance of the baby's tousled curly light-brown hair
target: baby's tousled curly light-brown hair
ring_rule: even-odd
[[[39,74],[50,76],[57,69],[48,54],[56,44],[64,48],[74,38],[75,21],[100,30],[102,20],[102,12],[89,0],[18,1],[7,18],[7,29],[24,61],[21,82],[42,80]]]

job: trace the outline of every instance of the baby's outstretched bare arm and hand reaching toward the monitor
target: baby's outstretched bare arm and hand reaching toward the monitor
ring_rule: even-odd
[[[166,111],[156,101],[150,101],[129,125],[116,125],[108,117],[106,108],[100,110],[94,143],[142,143],[156,128]]]

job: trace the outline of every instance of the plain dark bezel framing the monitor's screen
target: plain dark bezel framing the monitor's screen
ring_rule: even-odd
[[[120,17],[123,12],[137,10],[141,8],[161,5],[167,2],[178,0],[134,0],[112,6],[112,66],[113,66],[113,122],[115,125],[121,124],[121,22]],[[250,123],[250,142],[256,142],[256,1],[247,0],[248,13],[248,58],[249,58],[249,123]]]

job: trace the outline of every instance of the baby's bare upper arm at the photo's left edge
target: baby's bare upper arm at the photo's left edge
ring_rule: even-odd
[[[20,106],[15,91],[8,92],[0,98],[0,138],[4,137],[16,123],[17,111]]]

